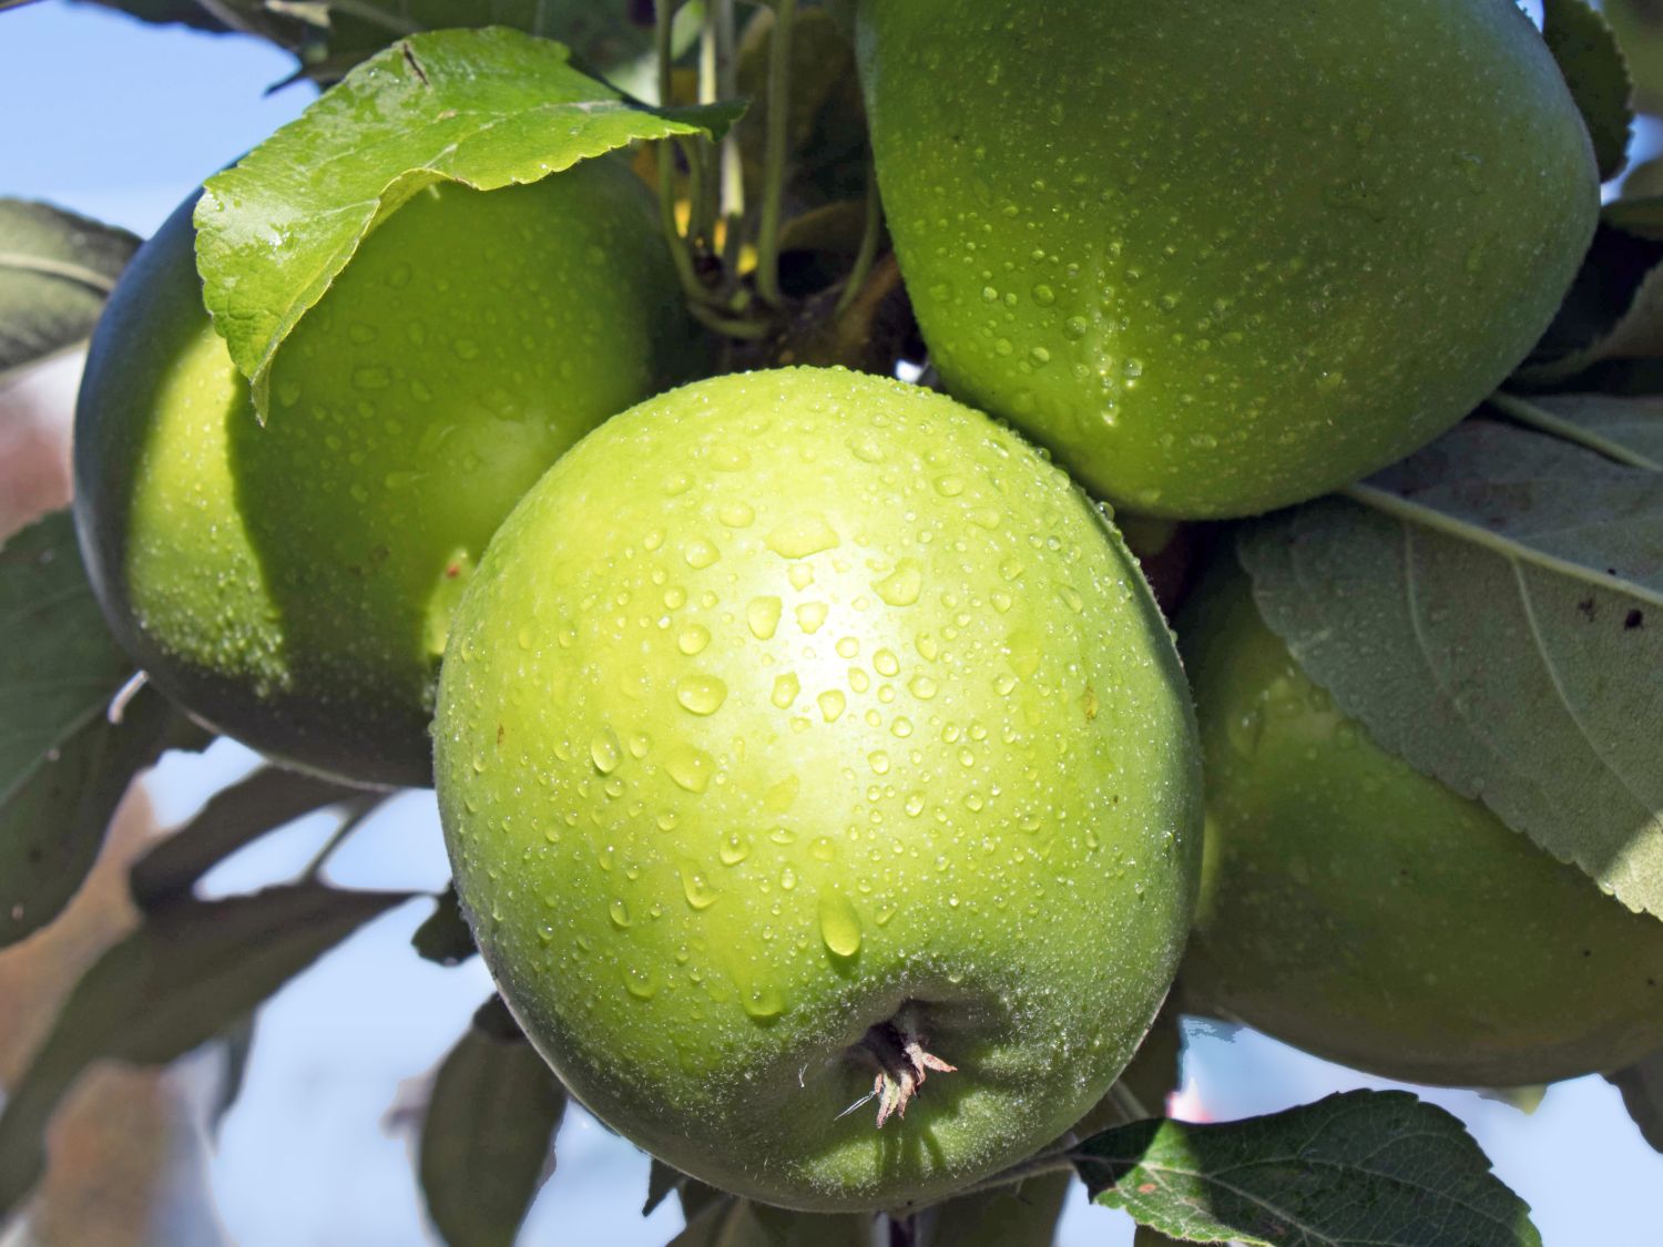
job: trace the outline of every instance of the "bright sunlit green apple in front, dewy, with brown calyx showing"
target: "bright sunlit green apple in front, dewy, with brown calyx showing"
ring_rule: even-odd
[[[833,1212],[940,1199],[1114,1081],[1187,933],[1192,733],[1059,469],[940,394],[787,369],[644,402],[527,494],[457,610],[434,771],[567,1086]]]

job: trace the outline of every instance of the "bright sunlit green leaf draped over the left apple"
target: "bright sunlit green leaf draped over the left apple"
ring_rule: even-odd
[[[424,186],[537,181],[635,140],[718,136],[738,111],[634,105],[567,58],[514,30],[412,35],[208,180],[196,205],[205,298],[261,419],[283,339]]]

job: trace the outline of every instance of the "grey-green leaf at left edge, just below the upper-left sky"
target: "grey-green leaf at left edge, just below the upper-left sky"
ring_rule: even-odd
[[[138,249],[126,229],[28,200],[0,200],[0,386],[91,334]]]

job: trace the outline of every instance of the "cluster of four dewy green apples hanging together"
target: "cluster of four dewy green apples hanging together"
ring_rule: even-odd
[[[707,357],[600,158],[399,209],[261,427],[183,206],[76,427],[86,562],[150,678],[288,763],[434,781],[477,944],[574,1094],[768,1202],[923,1204],[1066,1132],[1197,891],[1192,998],[1342,1061],[1505,1084],[1663,1042],[1655,921],[1372,745],[1241,569],[1181,619],[1192,702],[1084,492],[1294,504],[1518,362],[1598,205],[1535,28],[1508,0],[870,0],[858,47],[955,397],[665,392]]]

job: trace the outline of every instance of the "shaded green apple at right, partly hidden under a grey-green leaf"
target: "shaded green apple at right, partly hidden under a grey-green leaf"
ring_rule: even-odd
[[[1187,1004],[1442,1086],[1663,1046],[1663,923],[1375,745],[1264,625],[1234,552],[1179,635],[1207,775]]]

